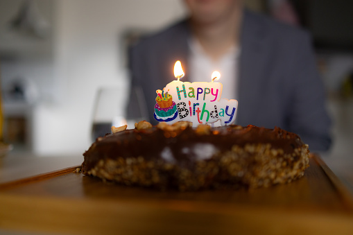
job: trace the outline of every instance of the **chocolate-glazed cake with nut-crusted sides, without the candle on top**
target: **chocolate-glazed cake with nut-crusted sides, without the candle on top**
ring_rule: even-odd
[[[280,128],[144,121],[134,130],[112,128],[83,155],[82,171],[119,184],[194,191],[257,188],[304,175],[309,150]]]

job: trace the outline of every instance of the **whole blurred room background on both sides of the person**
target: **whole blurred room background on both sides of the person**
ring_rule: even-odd
[[[290,3],[290,4],[288,4]],[[332,152],[352,153],[353,1],[247,0],[252,10],[307,28],[334,118]],[[81,155],[92,143],[94,99],[128,95],[126,40],[186,14],[180,0],[0,0],[5,137],[15,150]]]

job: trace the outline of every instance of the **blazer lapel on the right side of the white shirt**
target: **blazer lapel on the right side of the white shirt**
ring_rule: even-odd
[[[239,61],[238,101],[236,117],[238,125],[248,125],[257,116],[258,100],[266,64],[266,32],[259,18],[244,10],[241,29],[241,54]]]

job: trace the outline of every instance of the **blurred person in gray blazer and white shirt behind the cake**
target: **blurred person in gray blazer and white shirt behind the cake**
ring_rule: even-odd
[[[309,149],[329,149],[331,121],[309,34],[243,7],[241,0],[184,0],[189,17],[132,47],[132,89],[153,119],[155,91],[174,80],[209,82],[221,72],[223,98],[239,101],[237,125],[283,128]],[[133,103],[133,98],[131,100]],[[128,105],[134,116],[136,106]]]

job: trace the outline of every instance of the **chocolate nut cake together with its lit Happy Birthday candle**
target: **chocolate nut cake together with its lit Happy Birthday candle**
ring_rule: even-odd
[[[160,123],[112,127],[83,154],[83,174],[180,191],[257,188],[304,175],[309,149],[297,134],[232,125],[238,101],[221,98],[222,84],[214,82],[220,74],[212,73],[212,82],[181,82],[180,62],[175,68],[178,80],[156,91],[154,117]],[[216,122],[221,126],[215,128]]]

